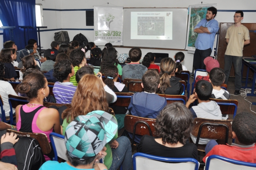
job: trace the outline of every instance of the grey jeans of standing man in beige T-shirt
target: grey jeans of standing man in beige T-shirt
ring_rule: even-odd
[[[228,77],[230,74],[232,63],[234,64],[235,69],[235,90],[239,90],[242,87],[242,57],[224,55],[224,71],[226,75],[225,84],[228,84]]]

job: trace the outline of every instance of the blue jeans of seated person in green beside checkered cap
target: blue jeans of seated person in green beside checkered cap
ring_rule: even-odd
[[[108,170],[116,170],[122,165],[123,170],[132,169],[132,157],[131,157],[131,143],[126,136],[121,136],[116,139],[118,141],[118,148],[112,150],[113,161]]]

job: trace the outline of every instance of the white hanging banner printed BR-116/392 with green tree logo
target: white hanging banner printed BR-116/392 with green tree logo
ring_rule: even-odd
[[[94,6],[94,43],[123,45],[123,7]]]

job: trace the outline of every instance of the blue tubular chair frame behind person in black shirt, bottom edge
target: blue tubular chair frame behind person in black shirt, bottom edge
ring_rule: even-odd
[[[199,168],[199,162],[194,158],[166,158],[166,157],[154,156],[154,155],[137,152],[132,156],[134,170],[136,170],[136,156],[141,156],[141,157],[145,157],[145,158],[156,160],[156,161],[162,161],[162,162],[173,162],[173,163],[193,162],[196,164],[195,170],[198,170]]]

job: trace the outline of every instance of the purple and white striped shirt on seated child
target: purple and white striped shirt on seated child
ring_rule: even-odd
[[[71,82],[55,82],[53,86],[53,94],[56,99],[56,103],[70,104],[75,92],[76,86]]]

